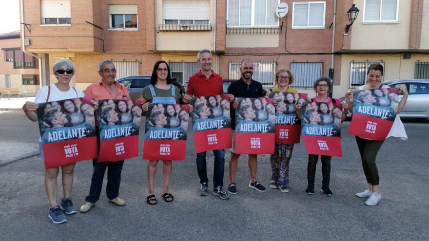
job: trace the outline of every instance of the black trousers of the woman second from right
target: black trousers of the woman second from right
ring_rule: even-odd
[[[318,159],[318,155],[309,155],[309,163],[307,166],[308,185],[314,185]],[[320,156],[320,160],[322,161],[322,185],[329,186],[329,181],[331,179],[331,156]]]

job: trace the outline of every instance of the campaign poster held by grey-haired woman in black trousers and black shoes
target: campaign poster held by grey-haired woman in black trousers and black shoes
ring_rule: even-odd
[[[341,118],[343,110],[325,102],[304,103],[301,108],[301,135],[307,153],[342,156]]]

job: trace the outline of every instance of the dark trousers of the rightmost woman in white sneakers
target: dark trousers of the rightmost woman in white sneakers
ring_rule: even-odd
[[[357,147],[359,148],[362,167],[364,168],[365,177],[370,185],[379,185],[380,177],[378,176],[375,158],[383,145],[384,141],[373,141],[356,136]]]

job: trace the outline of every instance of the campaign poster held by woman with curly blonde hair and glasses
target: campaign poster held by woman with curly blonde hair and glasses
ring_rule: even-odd
[[[275,111],[275,143],[294,144],[299,143],[301,136],[301,121],[296,116],[296,104],[304,104],[306,93],[271,92],[270,98],[276,102],[275,109],[270,104],[267,111]]]

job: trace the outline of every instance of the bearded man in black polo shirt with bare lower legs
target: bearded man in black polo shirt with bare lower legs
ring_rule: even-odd
[[[262,89],[262,84],[258,81],[252,79],[253,74],[253,63],[249,59],[245,59],[241,62],[240,66],[241,78],[237,81],[231,83],[228,87],[228,93],[234,95],[235,97],[244,97],[244,98],[258,98],[264,97],[264,89]],[[237,194],[237,187],[235,184],[235,173],[238,166],[238,158],[240,154],[235,153],[235,112],[231,108],[231,128],[233,129],[233,148],[231,149],[231,160],[230,160],[230,185],[228,186],[228,192],[231,194]],[[249,169],[250,169],[250,183],[249,187],[254,188],[260,192],[265,192],[266,189],[261,185],[256,179],[256,169],[258,166],[257,155],[249,154],[248,159]]]

